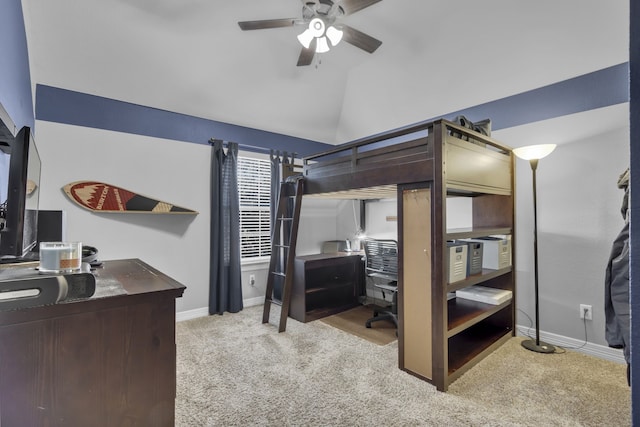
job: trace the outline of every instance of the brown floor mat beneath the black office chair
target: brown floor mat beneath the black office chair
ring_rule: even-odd
[[[395,341],[397,339],[396,327],[390,321],[380,320],[373,322],[370,328],[365,326],[365,322],[372,316],[372,308],[360,305],[351,310],[322,318],[320,321],[378,345],[387,345]]]

